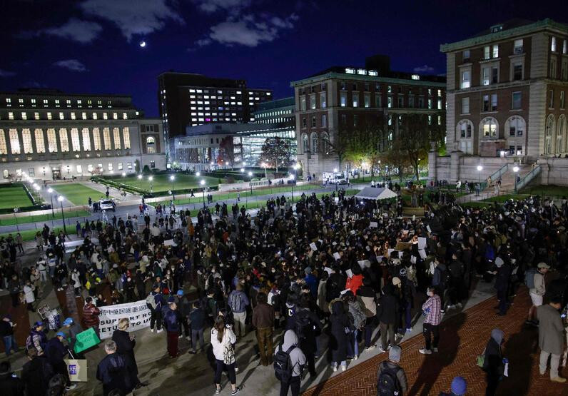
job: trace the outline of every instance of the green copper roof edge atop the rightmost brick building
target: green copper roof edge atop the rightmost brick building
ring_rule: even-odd
[[[493,41],[511,39],[514,36],[524,36],[532,34],[535,31],[557,31],[561,34],[568,34],[568,25],[560,24],[559,22],[552,21],[552,19],[543,19],[542,21],[534,22],[534,24],[527,24],[512,29],[505,29],[496,33],[485,34],[483,36],[472,37],[462,41],[456,41],[450,44],[441,44],[440,52],[452,52],[460,49],[465,49],[471,46],[479,46]]]

